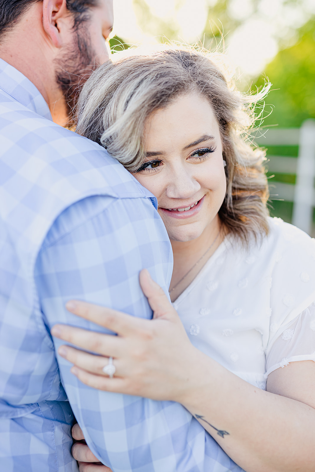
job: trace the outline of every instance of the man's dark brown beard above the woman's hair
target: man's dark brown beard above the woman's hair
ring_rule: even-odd
[[[66,126],[74,126],[80,90],[96,67],[90,35],[81,25],[75,32],[73,46],[57,62],[56,81],[65,98],[69,117]]]

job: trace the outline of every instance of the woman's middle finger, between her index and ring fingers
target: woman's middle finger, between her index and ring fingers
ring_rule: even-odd
[[[51,328],[52,336],[59,337],[68,343],[75,344],[87,351],[102,354],[107,357],[116,357],[121,348],[123,339],[110,334],[96,333],[68,325],[55,325]]]

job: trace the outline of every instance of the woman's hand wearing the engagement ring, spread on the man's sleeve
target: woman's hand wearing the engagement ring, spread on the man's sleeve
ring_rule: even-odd
[[[70,346],[59,348],[59,354],[74,364],[71,371],[86,385],[179,402],[182,394],[187,393],[189,380],[194,375],[194,365],[203,354],[192,346],[177,312],[147,270],[140,273],[140,284],[153,309],[153,320],[74,301],[67,303],[69,311],[111,329],[118,336],[66,325],[55,325],[51,333],[101,354],[95,356]],[[113,358],[116,368],[113,378],[102,370],[108,364],[109,357]]]

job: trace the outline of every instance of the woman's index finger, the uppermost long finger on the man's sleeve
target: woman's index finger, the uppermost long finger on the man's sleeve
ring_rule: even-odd
[[[137,327],[137,318],[113,310],[112,308],[81,302],[79,300],[70,300],[66,303],[66,308],[69,312],[103,326],[104,328],[108,328],[122,336],[133,332]]]

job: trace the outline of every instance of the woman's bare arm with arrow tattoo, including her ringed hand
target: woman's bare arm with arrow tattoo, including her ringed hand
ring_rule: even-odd
[[[153,320],[77,303],[71,311],[119,336],[59,326],[62,339],[114,357],[117,374],[109,379],[104,357],[64,347],[77,377],[94,388],[181,403],[247,472],[314,472],[315,362],[272,372],[269,391],[260,390],[192,346],[164,293],[145,274],[141,280]]]

